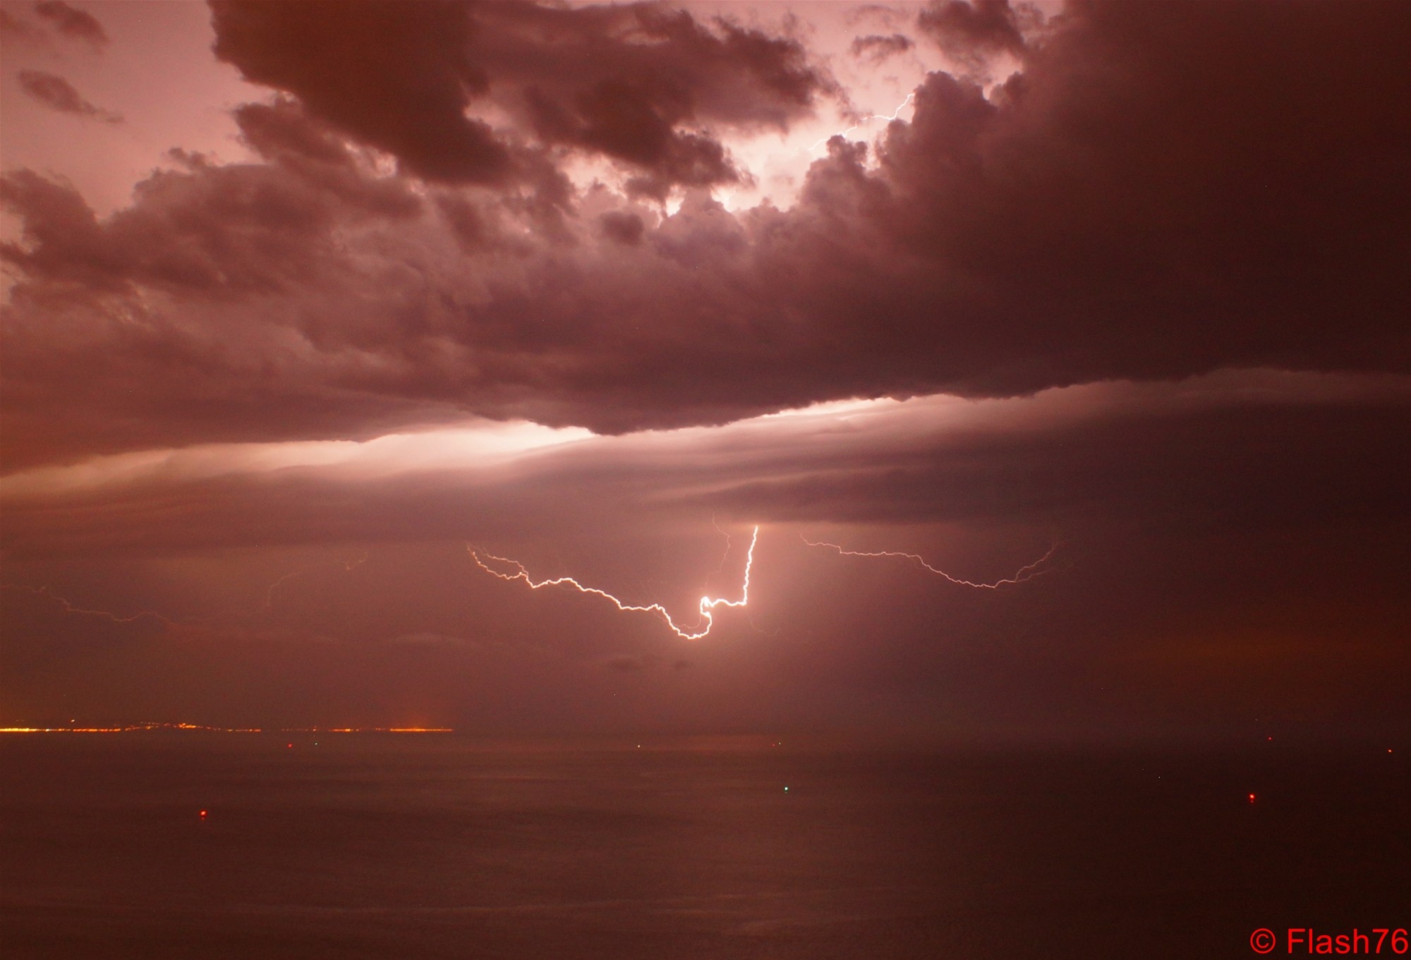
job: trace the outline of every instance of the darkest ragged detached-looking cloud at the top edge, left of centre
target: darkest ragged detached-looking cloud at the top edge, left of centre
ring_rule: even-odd
[[[440,182],[512,175],[514,145],[466,109],[487,97],[538,141],[639,171],[636,192],[741,178],[724,147],[683,124],[783,128],[828,89],[801,47],[636,4],[212,4],[216,55],[315,116]],[[523,171],[518,171],[523,172]]]

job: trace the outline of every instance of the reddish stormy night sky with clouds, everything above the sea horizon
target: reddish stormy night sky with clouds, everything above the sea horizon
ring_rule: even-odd
[[[0,724],[1411,733],[1411,4],[332,10],[0,4]]]

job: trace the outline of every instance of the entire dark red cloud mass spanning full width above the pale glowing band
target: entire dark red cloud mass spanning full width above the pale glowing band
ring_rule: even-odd
[[[193,161],[106,220],[62,185],[7,179],[25,226],[3,251],[21,272],[11,462],[365,436],[457,409],[618,432],[1411,360],[1405,4],[1077,3],[989,97],[933,73],[876,164],[835,140],[793,209],[694,192],[649,217],[532,150],[515,154],[539,164],[529,181],[420,203],[341,138],[488,176],[491,154],[439,138],[490,137],[459,112],[502,83],[531,140],[593,141],[650,178],[690,133],[672,126],[683,103],[742,128],[804,110],[820,88],[796,47],[656,7],[415,4],[385,31],[388,8],[326,10],[217,8],[226,55],[298,97],[238,114],[267,162]],[[658,133],[615,140],[631,130]]]

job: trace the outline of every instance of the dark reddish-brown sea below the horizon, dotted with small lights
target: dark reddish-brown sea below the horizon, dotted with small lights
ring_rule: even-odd
[[[0,738],[0,956],[1194,959],[1411,926],[1384,748],[313,740]]]

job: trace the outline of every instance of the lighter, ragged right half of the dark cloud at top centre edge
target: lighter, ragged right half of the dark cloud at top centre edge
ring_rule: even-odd
[[[683,124],[783,131],[832,89],[796,41],[727,20],[711,30],[656,6],[490,4],[477,16],[492,85],[509,88],[501,100],[543,141],[642,171],[634,193],[741,179],[717,138]]]

